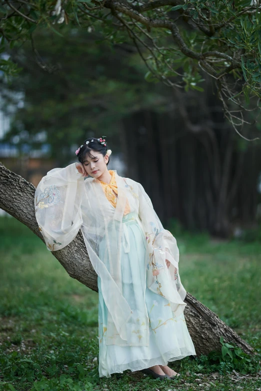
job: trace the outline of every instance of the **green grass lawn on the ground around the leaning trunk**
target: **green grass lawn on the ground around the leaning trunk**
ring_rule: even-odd
[[[261,244],[217,243],[207,235],[172,233],[186,290],[260,352]],[[13,218],[0,218],[0,238],[0,390],[261,388],[260,374],[212,376],[191,358],[170,364],[182,374],[175,381],[159,382],[130,371],[99,378],[97,293],[71,279],[45,245]],[[35,380],[38,389],[33,388]]]

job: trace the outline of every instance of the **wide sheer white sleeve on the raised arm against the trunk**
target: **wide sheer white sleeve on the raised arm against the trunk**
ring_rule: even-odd
[[[67,246],[82,225],[84,178],[75,163],[53,168],[35,190],[35,217],[49,251]]]

